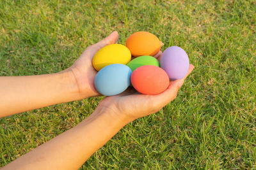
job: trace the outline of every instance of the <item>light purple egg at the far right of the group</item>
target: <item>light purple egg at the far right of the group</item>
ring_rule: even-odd
[[[189,68],[188,55],[179,46],[170,46],[164,50],[160,65],[166,71],[170,80],[184,78]]]

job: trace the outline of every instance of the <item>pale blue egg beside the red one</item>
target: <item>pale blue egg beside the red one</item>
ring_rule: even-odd
[[[129,87],[131,73],[131,69],[124,64],[103,67],[95,76],[95,88],[104,96],[120,94]]]

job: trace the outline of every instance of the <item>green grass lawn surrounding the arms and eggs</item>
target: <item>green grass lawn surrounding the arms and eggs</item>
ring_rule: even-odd
[[[256,2],[0,1],[0,76],[56,73],[111,31],[149,31],[195,71],[81,169],[256,169]],[[1,95],[1,94],[0,94]],[[0,166],[74,127],[102,97],[0,119]]]

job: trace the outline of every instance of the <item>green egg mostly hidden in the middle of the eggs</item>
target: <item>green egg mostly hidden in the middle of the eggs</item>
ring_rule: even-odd
[[[145,66],[145,65],[157,66],[157,67],[160,66],[158,60],[155,57],[148,56],[148,55],[137,57],[131,60],[130,62],[128,62],[127,64],[127,66],[130,67],[132,71],[134,71],[136,68],[140,66]]]

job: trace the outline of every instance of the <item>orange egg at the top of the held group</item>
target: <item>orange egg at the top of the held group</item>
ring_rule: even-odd
[[[132,56],[156,55],[162,46],[161,41],[150,32],[140,31],[134,32],[127,38],[125,46],[129,48]]]

